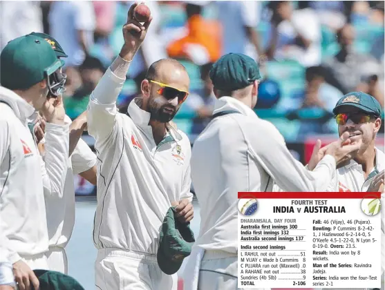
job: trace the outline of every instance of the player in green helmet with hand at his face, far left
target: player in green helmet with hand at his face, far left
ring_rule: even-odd
[[[63,195],[68,160],[68,125],[59,95],[63,62],[40,37],[10,41],[0,55],[0,220],[7,239],[17,287],[38,289],[33,269],[48,269],[48,231],[44,190]],[[46,163],[28,128],[28,117],[41,110],[46,124]],[[32,269],[32,270],[31,270]]]

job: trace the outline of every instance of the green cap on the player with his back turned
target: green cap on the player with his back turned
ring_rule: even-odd
[[[261,79],[256,61],[241,53],[229,53],[220,57],[212,66],[209,76],[214,88],[227,92],[245,88]]]

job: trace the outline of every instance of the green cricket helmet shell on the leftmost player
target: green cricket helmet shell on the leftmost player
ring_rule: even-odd
[[[10,90],[25,90],[63,65],[46,40],[33,35],[18,37],[1,51],[0,83]]]

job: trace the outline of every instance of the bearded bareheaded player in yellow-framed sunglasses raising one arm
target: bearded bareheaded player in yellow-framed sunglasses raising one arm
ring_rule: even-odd
[[[173,59],[152,64],[142,81],[143,97],[128,113],[116,99],[151,19],[133,19],[133,4],[123,27],[124,45],[88,104],[88,133],[97,150],[97,210],[93,239],[98,289],[177,289],[176,274],[157,262],[160,227],[171,204],[179,220],[193,218],[188,137],[169,122],[185,101],[189,76]]]

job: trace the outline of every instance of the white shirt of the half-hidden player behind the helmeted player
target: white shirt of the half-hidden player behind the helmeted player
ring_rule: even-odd
[[[66,124],[71,124],[70,117],[66,116]],[[45,193],[48,238],[50,247],[66,247],[71,238],[75,225],[75,186],[73,175],[87,171],[96,164],[96,155],[91,148],[79,139],[75,150],[68,158],[66,181],[62,197]]]

